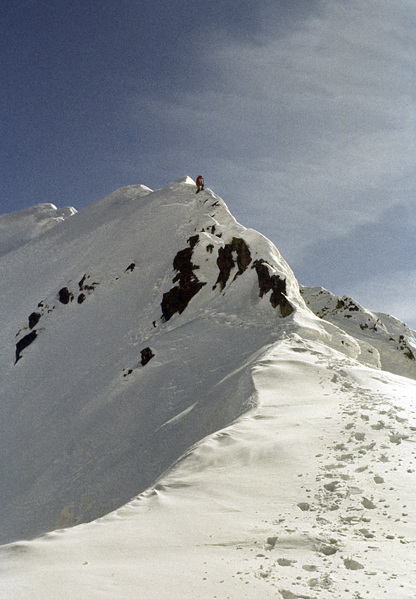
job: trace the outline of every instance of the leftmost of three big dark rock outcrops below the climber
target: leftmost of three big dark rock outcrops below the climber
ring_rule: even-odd
[[[190,237],[188,242],[191,247],[181,249],[173,259],[173,268],[177,271],[177,275],[173,278],[172,283],[179,283],[179,285],[172,287],[170,291],[163,294],[160,306],[165,321],[170,320],[176,312],[182,314],[192,297],[203,288],[203,285],[206,285],[206,283],[201,283],[196,278],[194,270],[199,268],[199,266],[192,264],[191,260],[192,249],[198,243],[198,240],[198,235]]]

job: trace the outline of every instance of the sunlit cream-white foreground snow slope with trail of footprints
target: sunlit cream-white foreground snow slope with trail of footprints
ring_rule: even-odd
[[[113,514],[1,548],[8,599],[410,599],[416,383],[297,335],[258,407]]]

